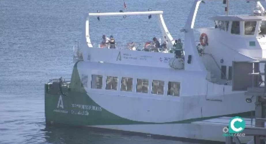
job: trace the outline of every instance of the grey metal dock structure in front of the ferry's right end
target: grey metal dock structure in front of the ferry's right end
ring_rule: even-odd
[[[245,136],[253,136],[253,139],[249,143],[265,144],[266,86],[265,84],[261,86],[261,82],[263,82],[262,75],[265,76],[265,73],[261,73],[259,68],[260,64],[264,64],[264,70],[266,70],[266,60],[250,61],[247,63],[252,63],[252,72],[248,73],[249,77],[252,77],[252,86],[247,88],[247,92],[245,92],[245,95],[250,96],[250,98],[246,99],[247,103],[251,103],[252,100],[255,100],[255,126],[246,126],[241,133],[245,134]],[[265,82],[266,76],[264,77],[264,83]],[[241,144],[237,136],[225,138],[226,144]]]

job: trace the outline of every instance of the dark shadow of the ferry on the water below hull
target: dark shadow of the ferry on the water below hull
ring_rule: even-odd
[[[41,131],[48,143],[85,144],[85,143],[175,143],[175,144],[224,144],[224,142],[205,141],[196,139],[160,136],[139,132],[126,132],[120,130],[108,130],[56,124],[46,125]],[[172,141],[171,141],[172,140]]]

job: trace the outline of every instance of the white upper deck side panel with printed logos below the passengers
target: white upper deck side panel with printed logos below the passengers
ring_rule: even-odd
[[[176,69],[184,69],[184,55],[181,52],[179,56],[176,56],[176,52],[171,48],[143,48],[138,46],[131,50],[124,45],[116,45],[115,47],[114,49],[105,46],[99,48],[99,45],[95,44],[95,47],[88,47],[82,55],[78,49],[74,48],[74,60],[162,68],[171,68],[171,62],[174,63],[174,60],[178,60],[182,61],[181,65],[172,65],[176,65],[178,67]]]

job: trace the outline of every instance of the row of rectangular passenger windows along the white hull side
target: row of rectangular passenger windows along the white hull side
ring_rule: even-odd
[[[88,75],[82,74],[82,85],[88,87]],[[118,89],[118,77],[106,76],[105,90],[117,90]],[[136,86],[133,86],[133,78],[121,77],[121,91],[125,92],[137,92],[137,93],[148,93],[149,80],[148,79],[136,79]],[[90,82],[91,89],[102,89],[103,88],[103,76],[102,75],[91,75]],[[135,88],[136,89],[135,89]],[[168,82],[167,84],[167,95],[179,96],[180,83],[179,82]],[[165,89],[165,82],[161,80],[152,80],[152,94],[163,95]]]

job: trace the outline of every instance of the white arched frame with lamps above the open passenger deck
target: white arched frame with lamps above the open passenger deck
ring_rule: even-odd
[[[90,16],[128,16],[128,15],[157,15],[159,26],[162,32],[162,40],[168,40],[168,46],[173,46],[174,39],[169,33],[167,26],[163,20],[163,11],[147,11],[147,12],[107,12],[107,13],[89,13],[86,18],[86,41],[88,43],[88,47],[93,47],[90,41],[89,34],[89,17]]]

